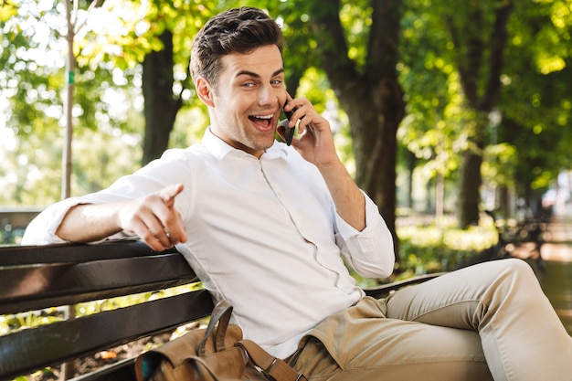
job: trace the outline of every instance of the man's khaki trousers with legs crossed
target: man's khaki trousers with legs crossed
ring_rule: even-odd
[[[520,259],[366,297],[304,336],[310,380],[570,381],[572,338]]]

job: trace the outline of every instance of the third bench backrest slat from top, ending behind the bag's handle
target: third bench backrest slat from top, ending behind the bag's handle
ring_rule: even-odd
[[[210,295],[200,290],[11,333],[0,345],[0,379],[161,333],[206,317],[212,309]]]

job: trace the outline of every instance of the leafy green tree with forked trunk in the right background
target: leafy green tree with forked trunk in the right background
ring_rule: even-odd
[[[448,161],[455,160],[456,152],[463,157],[460,225],[478,221],[479,162],[490,144],[504,144],[491,146],[492,157],[504,164],[496,166],[501,172],[491,181],[517,185],[523,197],[531,188],[542,192],[560,165],[568,164],[558,147],[570,146],[565,133],[570,117],[570,2],[491,1],[462,7],[458,2],[408,0],[407,5],[400,77],[409,111],[404,132],[408,147],[421,156],[437,146],[427,139],[437,123],[449,125],[450,133],[441,135],[450,142]],[[499,115],[500,123],[492,115]],[[491,164],[486,165],[487,175],[492,174]],[[455,166],[450,163],[450,169]]]

